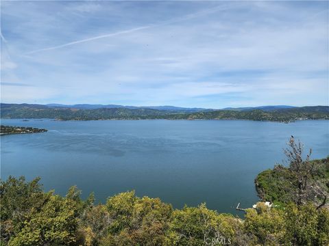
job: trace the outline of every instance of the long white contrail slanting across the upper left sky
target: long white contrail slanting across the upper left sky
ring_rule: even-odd
[[[176,22],[179,22],[179,21],[182,21],[182,20],[188,20],[188,19],[191,19],[191,18],[196,18],[198,16],[204,16],[206,14],[211,14],[211,13],[215,13],[219,10],[226,10],[226,9],[227,8],[223,8],[222,6],[217,6],[215,8],[209,8],[209,9],[202,10],[202,11],[196,12],[194,14],[188,14],[186,16],[182,16],[182,17],[179,17],[179,18],[164,20],[163,22],[158,23],[158,24],[145,25],[145,26],[136,27],[136,28],[133,28],[133,29],[127,29],[127,30],[123,30],[123,31],[117,31],[117,32],[114,32],[114,33],[108,33],[108,34],[101,35],[101,36],[96,36],[96,37],[93,37],[93,38],[86,38],[86,39],[83,39],[83,40],[77,40],[77,41],[69,42],[69,43],[66,43],[66,44],[61,44],[61,45],[58,45],[58,46],[52,46],[52,47],[45,48],[45,49],[38,49],[38,50],[35,50],[35,51],[29,51],[29,52],[25,53],[25,55],[31,55],[31,54],[39,53],[39,52],[42,52],[42,51],[50,51],[50,50],[53,50],[53,49],[60,49],[60,48],[66,47],[66,46],[71,46],[73,44],[80,44],[80,43],[83,43],[83,42],[89,42],[89,41],[98,40],[98,39],[101,39],[101,38],[119,36],[119,35],[122,35],[122,34],[132,33],[134,31],[140,31],[140,30],[143,30],[143,29],[151,28],[151,27],[159,27],[161,25],[176,23]],[[1,34],[1,38],[3,38],[2,34]]]

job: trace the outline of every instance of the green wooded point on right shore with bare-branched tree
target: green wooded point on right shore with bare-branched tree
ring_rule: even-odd
[[[295,202],[298,206],[311,202],[317,208],[329,208],[329,156],[310,161],[312,149],[303,159],[303,144],[291,136],[284,150],[287,166],[276,165],[258,174],[256,191],[263,201],[275,204]]]

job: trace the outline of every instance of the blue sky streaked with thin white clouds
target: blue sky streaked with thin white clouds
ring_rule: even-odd
[[[328,1],[1,1],[1,102],[329,105]]]

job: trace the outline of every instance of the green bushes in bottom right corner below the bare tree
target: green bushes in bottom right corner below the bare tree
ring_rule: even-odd
[[[245,230],[260,245],[328,245],[329,210],[290,203],[284,210],[258,202],[245,215]]]

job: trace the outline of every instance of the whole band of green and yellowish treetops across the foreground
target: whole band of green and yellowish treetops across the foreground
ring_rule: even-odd
[[[39,178],[1,182],[0,245],[328,245],[329,210],[314,204],[269,208],[258,202],[245,218],[206,208],[175,209],[134,191],[94,205],[77,187],[65,197],[43,192]]]

